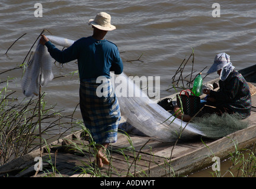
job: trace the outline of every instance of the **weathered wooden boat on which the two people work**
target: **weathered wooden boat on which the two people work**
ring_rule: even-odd
[[[256,86],[256,65],[239,70]],[[213,80],[212,82],[216,82]],[[175,94],[173,94],[175,96]],[[170,96],[172,97],[172,96]],[[97,169],[94,150],[82,131],[14,159],[0,167],[1,177],[169,177],[187,175],[213,165],[214,157],[224,159],[238,148],[249,148],[256,141],[256,95],[252,94],[250,126],[220,139],[159,142],[148,136],[125,135],[109,146],[110,165]],[[123,120],[125,121],[125,120]],[[203,141],[203,142],[202,142]],[[69,143],[69,148],[66,144]],[[43,171],[36,172],[38,158]]]

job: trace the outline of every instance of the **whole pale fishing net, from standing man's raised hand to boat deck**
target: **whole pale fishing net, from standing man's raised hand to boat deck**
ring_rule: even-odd
[[[74,42],[66,38],[51,35],[47,36],[47,38],[52,43],[62,47],[69,47]],[[40,83],[41,85],[45,85],[53,79],[52,62],[53,59],[47,52],[46,47],[38,44],[33,60],[28,65],[23,80],[22,87],[25,96],[31,97],[34,93],[38,93]],[[39,77],[40,74],[43,76],[41,80]],[[114,75],[114,77],[114,80],[111,78],[111,82],[119,100],[123,118],[140,132],[159,141],[173,142],[177,138],[188,140],[200,135],[209,138],[219,138],[246,127],[246,125],[239,126],[239,124],[233,126],[234,122],[229,122],[233,118],[229,116],[225,119],[225,123],[228,124],[221,122],[220,120],[222,119],[217,118],[212,118],[212,120],[219,121],[210,123],[201,120],[199,121],[200,124],[199,122],[183,122],[149,99],[139,86],[127,77],[126,74],[122,73],[119,76]]]

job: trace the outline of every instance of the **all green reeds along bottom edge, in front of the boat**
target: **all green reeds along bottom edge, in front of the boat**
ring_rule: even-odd
[[[123,132],[122,132],[123,133]],[[87,177],[151,177],[151,164],[158,165],[159,162],[154,162],[153,158],[150,159],[148,163],[148,171],[142,170],[137,164],[139,161],[143,161],[143,154],[140,153],[142,148],[144,148],[149,141],[147,141],[139,151],[135,151],[133,147],[133,142],[130,139],[130,136],[127,133],[123,133],[127,136],[128,142],[130,146],[126,148],[110,148],[105,149],[107,157],[110,159],[110,165],[108,167],[101,169],[98,168],[94,161],[95,159],[95,149],[96,145],[93,141],[91,141],[91,136],[89,136],[89,131],[85,129],[84,134],[87,136],[87,139],[79,141],[69,140],[69,144],[65,145],[68,148],[68,151],[72,151],[73,154],[80,154],[84,157],[84,160],[81,161],[80,166],[76,166],[73,168],[73,174],[78,175],[86,175]],[[86,142],[87,141],[87,142]],[[202,141],[203,144],[204,141]],[[226,177],[227,174],[232,175],[232,177],[255,177],[256,170],[255,170],[255,148],[250,149],[239,149],[235,141],[233,141],[235,152],[230,154],[228,159],[232,162],[231,167],[223,173],[224,170],[211,172],[212,177]],[[206,145],[206,144],[205,144]],[[206,145],[207,146],[207,145]],[[254,146],[255,147],[255,146]],[[207,146],[209,148],[209,146]],[[49,149],[49,158],[46,159],[45,162],[49,164],[47,168],[44,169],[44,174],[40,176],[44,177],[64,177],[57,169],[56,169],[56,153],[55,158],[51,157],[51,153]],[[209,148],[211,151],[211,149]],[[117,170],[113,162],[111,161],[113,157],[111,154],[113,152],[119,153],[123,155],[123,160],[127,162],[127,172],[120,172]],[[153,157],[153,154],[152,154]],[[212,156],[209,157],[212,159],[215,157],[215,154],[212,153]],[[165,177],[186,177],[186,175],[178,175],[172,169],[172,163],[169,161],[169,158],[165,160],[164,165],[161,166],[162,170],[165,171]],[[57,173],[57,175],[56,175]]]

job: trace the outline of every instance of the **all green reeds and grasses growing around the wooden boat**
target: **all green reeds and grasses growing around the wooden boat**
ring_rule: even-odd
[[[194,57],[194,54],[191,54],[190,57]],[[188,59],[190,59],[190,57]],[[194,60],[194,58],[193,58]],[[186,64],[187,61],[184,60]],[[180,73],[179,79],[175,80],[173,77],[173,82],[178,82],[180,79],[183,79],[183,69],[178,69],[175,76]],[[180,66],[181,67],[181,66]],[[14,69],[23,69],[24,64],[21,66],[17,66]],[[2,72],[2,73],[5,73]],[[0,73],[0,75],[2,74]],[[191,75],[194,71],[191,71],[186,77],[190,77],[188,82],[188,86],[191,84],[192,77]],[[12,79],[4,79],[0,81],[1,83],[1,91],[0,91],[0,166],[6,164],[12,159],[19,158],[34,149],[41,148],[42,145],[49,144],[49,141],[53,141],[55,139],[63,138],[68,133],[72,133],[72,129],[82,129],[84,131],[85,136],[87,136],[87,144],[73,144],[73,142],[66,141],[64,145],[66,149],[69,151],[76,151],[81,153],[89,153],[89,163],[83,164],[82,166],[77,168],[77,172],[79,174],[89,174],[93,177],[111,177],[113,172],[115,172],[114,166],[111,164],[111,153],[113,151],[118,151],[123,158],[127,161],[127,165],[129,170],[127,170],[126,177],[150,177],[151,170],[148,172],[138,170],[137,162],[140,161],[141,155],[140,150],[144,148],[147,144],[142,145],[142,148],[139,151],[135,150],[133,147],[133,141],[130,139],[127,133],[123,133],[126,135],[128,142],[130,144],[129,148],[119,148],[119,149],[105,149],[105,154],[108,159],[110,159],[110,165],[108,165],[107,173],[102,172],[97,166],[95,166],[95,150],[96,146],[91,138],[90,133],[85,128],[82,120],[78,120],[74,118],[74,113],[71,115],[62,115],[62,110],[56,110],[55,105],[48,105],[44,100],[44,96],[46,94],[40,93],[39,96],[34,97],[33,99],[24,98],[22,100],[17,98],[16,92],[14,90],[9,90],[9,82]],[[181,83],[183,80],[181,80]],[[181,88],[184,88],[184,83]],[[76,111],[76,107],[74,112]],[[213,177],[226,177],[227,175],[231,177],[255,177],[255,148],[249,149],[238,149],[238,146],[235,145],[235,153],[230,154],[231,166],[225,170],[225,172],[220,171],[212,171]],[[52,173],[49,174],[47,170],[44,170],[44,175],[46,177],[52,176],[55,177],[56,174],[59,174],[58,170],[55,166],[55,159],[52,159],[50,156],[49,148],[46,148],[49,151],[49,158],[46,162],[51,166]],[[126,155],[129,152],[129,155]],[[247,155],[245,155],[247,154]],[[171,157],[172,155],[170,155]],[[153,154],[152,154],[153,157]],[[130,162],[130,159],[133,159]],[[153,158],[152,162],[153,163]],[[162,167],[166,174],[166,177],[175,177],[175,176],[185,176],[185,175],[176,175],[174,171],[172,171],[172,162],[171,158],[166,159],[165,167]],[[132,172],[136,170],[137,175],[133,175]]]

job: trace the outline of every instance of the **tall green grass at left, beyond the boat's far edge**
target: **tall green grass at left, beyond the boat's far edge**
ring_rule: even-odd
[[[40,146],[39,121],[41,135],[47,139],[61,137],[56,131],[66,124],[70,127],[72,122],[72,115],[62,116],[61,111],[54,110],[55,106],[47,106],[44,94],[40,100],[24,98],[20,101],[14,97],[15,91],[8,90],[9,80],[6,83],[0,91],[0,165]]]

